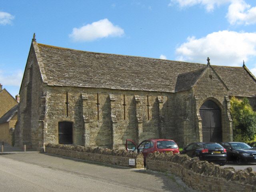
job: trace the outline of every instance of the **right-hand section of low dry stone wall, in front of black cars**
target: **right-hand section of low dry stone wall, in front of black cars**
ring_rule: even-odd
[[[200,192],[252,192],[256,191],[256,172],[251,167],[235,170],[207,161],[192,159],[187,155],[149,154],[146,168],[180,176],[190,187]]]

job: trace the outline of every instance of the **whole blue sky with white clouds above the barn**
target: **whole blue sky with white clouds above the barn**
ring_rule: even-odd
[[[0,0],[0,83],[19,92],[33,33],[78,50],[242,66],[256,75],[255,0]]]

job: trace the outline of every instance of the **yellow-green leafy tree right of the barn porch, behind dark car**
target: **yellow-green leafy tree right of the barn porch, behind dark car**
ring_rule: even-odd
[[[256,112],[247,98],[230,100],[230,114],[233,120],[234,141],[252,142],[256,140]]]

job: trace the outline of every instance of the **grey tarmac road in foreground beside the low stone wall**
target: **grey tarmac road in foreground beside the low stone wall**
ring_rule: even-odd
[[[41,153],[0,155],[1,192],[195,192],[174,175]]]

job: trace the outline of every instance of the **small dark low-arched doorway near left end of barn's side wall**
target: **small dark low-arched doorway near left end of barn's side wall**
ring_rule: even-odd
[[[73,144],[73,123],[62,121],[58,123],[59,144]]]

